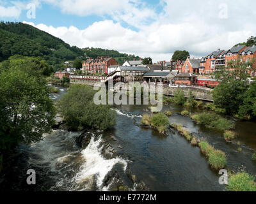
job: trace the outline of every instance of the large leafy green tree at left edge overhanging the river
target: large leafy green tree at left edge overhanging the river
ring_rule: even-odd
[[[0,73],[0,152],[37,142],[51,130],[54,106],[38,77],[13,66]]]

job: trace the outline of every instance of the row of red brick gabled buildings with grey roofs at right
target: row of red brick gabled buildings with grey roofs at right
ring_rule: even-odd
[[[246,47],[246,45],[237,45],[229,50],[216,50],[201,59],[191,59],[175,62],[175,69],[180,73],[195,73],[205,75],[220,70],[220,66],[228,65],[230,61],[253,62],[253,68],[256,68],[256,47]],[[256,76],[255,71],[249,71]]]

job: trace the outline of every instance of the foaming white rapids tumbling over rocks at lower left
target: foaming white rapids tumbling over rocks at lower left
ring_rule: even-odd
[[[102,156],[102,137],[92,136],[86,149],[76,147],[79,133],[54,131],[31,146],[29,166],[52,178],[51,191],[108,191],[103,182],[116,164],[127,161],[121,157]],[[44,152],[44,153],[43,153]]]

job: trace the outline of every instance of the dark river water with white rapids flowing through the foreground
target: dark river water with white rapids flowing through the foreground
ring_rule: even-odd
[[[58,100],[67,90],[60,87],[60,94],[51,94]],[[148,106],[125,105],[113,108],[116,111],[114,129],[95,133],[86,149],[77,146],[81,133],[57,129],[45,134],[43,139],[30,146],[20,145],[19,159],[14,159],[12,168],[2,178],[1,190],[23,191],[111,191],[115,182],[136,190],[127,178],[127,169],[143,181],[152,191],[223,191],[218,183],[220,175],[213,171],[198,147],[192,147],[178,133],[168,137],[152,129],[140,128],[140,120]],[[246,170],[256,174],[252,153],[256,149],[256,129],[253,122],[236,122],[239,133],[236,141],[225,142],[221,133],[198,126],[189,117],[182,117],[181,108],[164,106],[174,114],[170,123],[182,124],[198,138],[207,141],[227,154],[230,170]],[[237,145],[237,141],[241,145]],[[102,154],[109,143],[117,151],[115,157],[106,159]],[[243,151],[239,152],[238,147]],[[36,185],[26,184],[26,171],[36,170]],[[117,179],[107,181],[111,174]],[[111,187],[112,186],[112,187]]]

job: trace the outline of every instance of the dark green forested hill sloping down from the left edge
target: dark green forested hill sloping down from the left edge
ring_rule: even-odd
[[[51,65],[72,61],[76,57],[86,59],[86,57],[109,56],[115,57],[120,64],[124,62],[124,59],[140,58],[134,55],[121,54],[115,50],[70,47],[60,38],[56,38],[32,25],[21,22],[0,22],[0,62],[15,54],[42,57]]]

